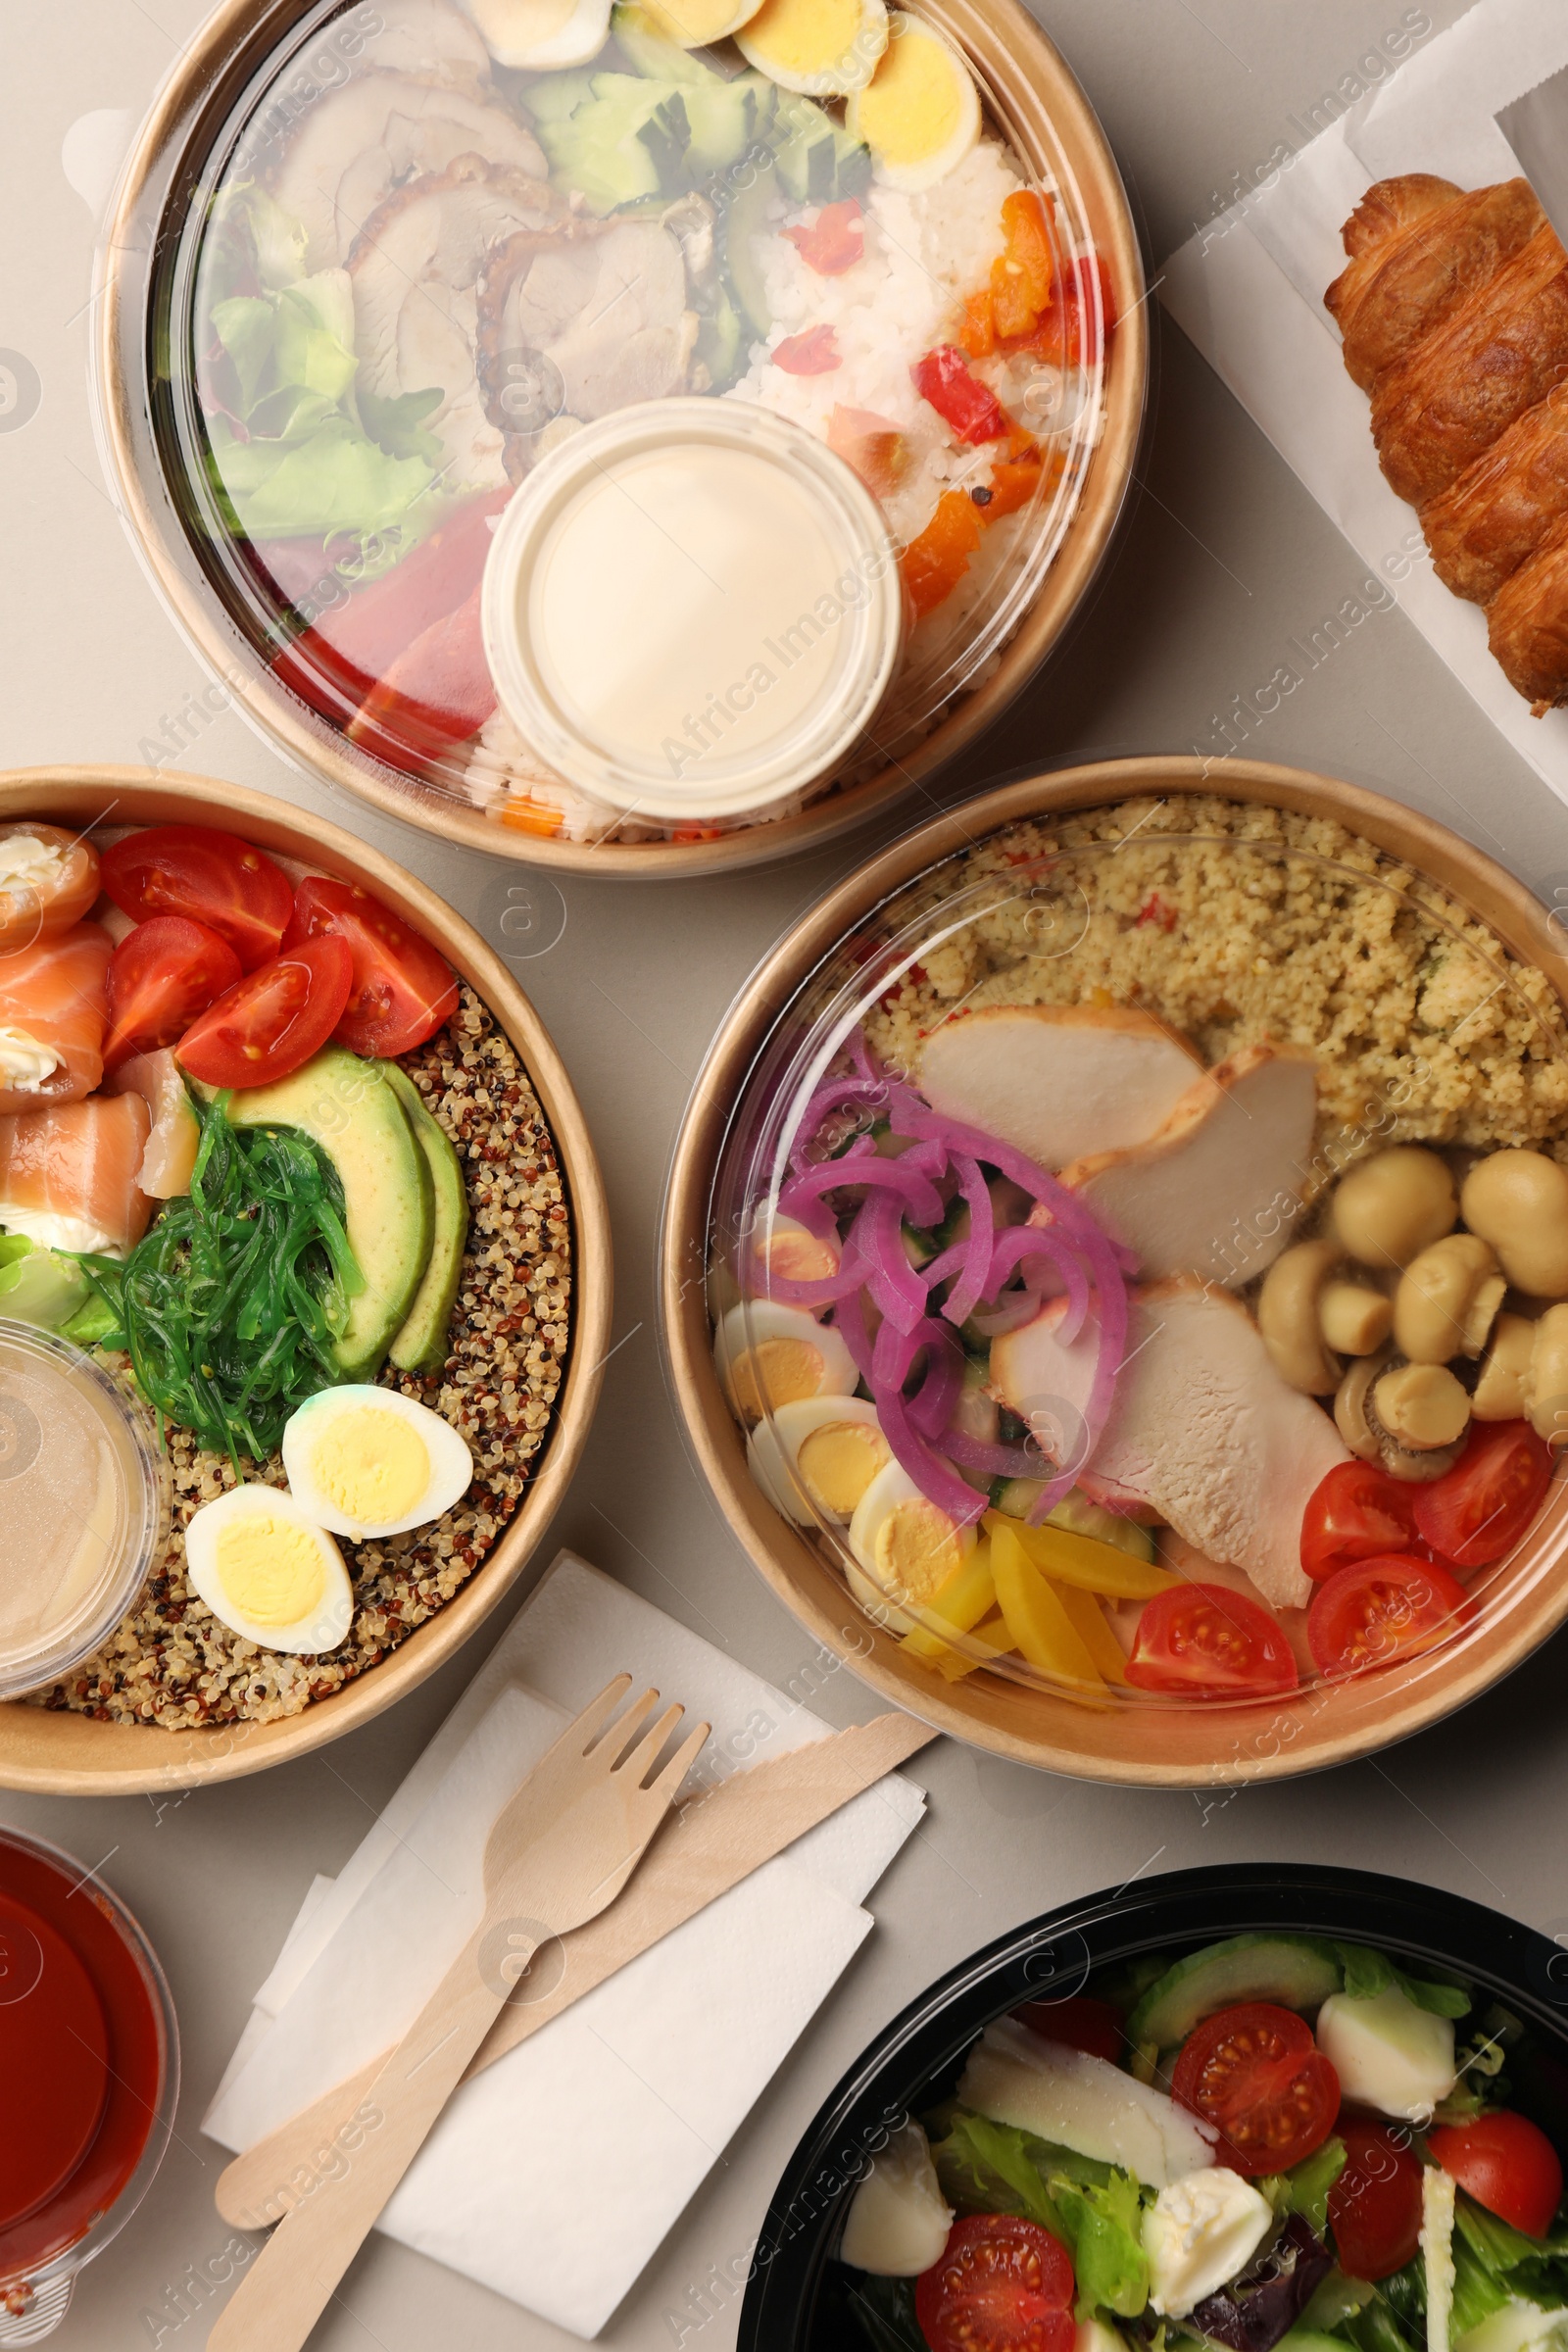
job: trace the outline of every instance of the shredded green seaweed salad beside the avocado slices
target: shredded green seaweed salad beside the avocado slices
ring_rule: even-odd
[[[320,1145],[294,1127],[230,1127],[226,1094],[193,1103],[190,1192],[125,1263],[78,1263],[143,1397],[237,1475],[242,1451],[275,1454],[289,1414],[339,1378],[331,1343],[364,1277]]]

